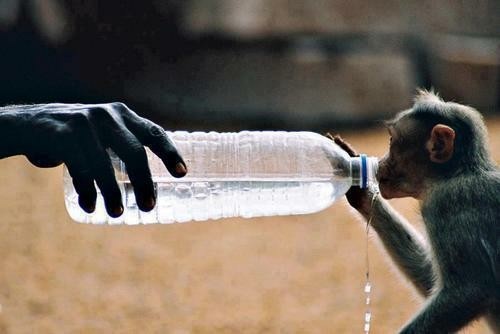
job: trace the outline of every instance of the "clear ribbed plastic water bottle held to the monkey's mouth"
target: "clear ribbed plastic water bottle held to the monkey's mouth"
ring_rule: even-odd
[[[78,205],[65,170],[66,208],[75,221],[149,224],[313,213],[327,208],[351,185],[374,179],[376,158],[351,158],[332,140],[312,132],[169,132],[188,168],[172,177],[148,151],[157,192],[156,207],[138,209],[125,165],[112,156],[124,213],[110,218],[98,195],[95,212]]]

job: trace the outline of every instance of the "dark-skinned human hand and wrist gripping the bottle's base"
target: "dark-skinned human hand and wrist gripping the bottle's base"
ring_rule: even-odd
[[[37,167],[66,164],[78,202],[93,212],[95,184],[108,214],[123,213],[120,190],[106,149],[125,163],[137,204],[150,211],[155,191],[144,146],[148,146],[175,177],[186,166],[163,128],[138,116],[123,103],[43,104],[0,108],[0,158],[23,154]]]

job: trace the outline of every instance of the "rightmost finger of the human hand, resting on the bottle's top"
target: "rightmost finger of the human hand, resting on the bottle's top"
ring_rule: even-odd
[[[163,161],[172,176],[186,175],[186,163],[161,126],[135,113],[126,118],[125,123],[137,139]]]

